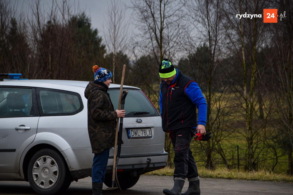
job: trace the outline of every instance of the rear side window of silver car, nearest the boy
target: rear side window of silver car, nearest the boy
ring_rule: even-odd
[[[37,89],[41,116],[73,115],[83,109],[78,93],[53,89]]]

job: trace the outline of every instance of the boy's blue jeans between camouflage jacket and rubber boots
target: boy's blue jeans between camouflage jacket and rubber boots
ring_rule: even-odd
[[[95,154],[93,157],[92,183],[103,183],[105,181],[106,167],[109,159],[110,148]]]

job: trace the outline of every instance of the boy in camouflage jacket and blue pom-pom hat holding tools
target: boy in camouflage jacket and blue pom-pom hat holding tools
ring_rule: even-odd
[[[125,110],[114,111],[107,93],[112,73],[104,68],[93,66],[95,81],[89,82],[84,91],[88,99],[88,135],[94,153],[92,167],[93,195],[102,195],[106,166],[110,148],[114,146],[116,119],[125,116]]]

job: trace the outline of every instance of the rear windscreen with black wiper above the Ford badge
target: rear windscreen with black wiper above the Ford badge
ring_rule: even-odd
[[[141,90],[127,89],[128,94],[125,99],[125,117],[156,117],[160,116],[149,98]],[[120,89],[109,89],[114,110],[118,109]]]

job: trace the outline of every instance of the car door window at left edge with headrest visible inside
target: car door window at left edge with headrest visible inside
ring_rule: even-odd
[[[0,88],[0,117],[38,116],[35,89]],[[34,105],[35,104],[35,105]]]

